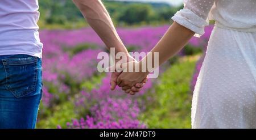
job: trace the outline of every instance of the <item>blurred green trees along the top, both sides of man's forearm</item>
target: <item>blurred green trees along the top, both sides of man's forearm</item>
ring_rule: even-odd
[[[164,24],[181,7],[166,4],[103,1],[112,20],[118,26]],[[77,7],[70,0],[39,1],[41,28],[81,28],[87,26]]]

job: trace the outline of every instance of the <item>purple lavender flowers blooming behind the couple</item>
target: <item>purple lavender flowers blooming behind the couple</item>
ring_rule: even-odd
[[[169,25],[162,27],[118,28],[123,43],[138,52],[149,52],[167,31]],[[189,44],[199,47],[207,46],[212,26],[205,28],[205,35],[200,39],[193,37]],[[143,90],[133,97],[127,97],[120,88],[110,91],[107,74],[92,91],[83,89],[81,92],[71,93],[72,86],[80,86],[93,75],[97,75],[97,54],[104,51],[104,43],[91,28],[77,30],[43,30],[40,31],[43,48],[43,105],[51,109],[52,104],[59,100],[59,95],[67,95],[75,104],[75,110],[83,116],[67,122],[68,128],[146,128],[138,120],[138,115],[144,109],[142,102],[137,100],[148,90],[152,90],[152,81],[149,80]],[[72,56],[69,49],[80,44],[94,44],[96,49],[81,50]],[[65,50],[68,48],[68,50]],[[206,48],[206,47],[205,47]],[[194,87],[200,70],[196,67],[192,85]],[[54,90],[51,90],[54,89]],[[51,93],[49,93],[51,91]],[[53,92],[54,91],[54,92]],[[89,114],[82,114],[84,111]],[[57,126],[61,128],[61,126]]]

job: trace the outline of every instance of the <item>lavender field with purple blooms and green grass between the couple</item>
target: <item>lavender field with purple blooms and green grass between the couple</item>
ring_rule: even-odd
[[[118,28],[129,52],[149,52],[167,31]],[[110,91],[110,73],[97,71],[105,45],[91,28],[41,30],[43,99],[37,128],[189,128],[193,87],[213,26],[161,68],[135,96]]]

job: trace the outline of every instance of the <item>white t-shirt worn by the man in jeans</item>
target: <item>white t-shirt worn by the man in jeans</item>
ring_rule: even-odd
[[[38,0],[0,0],[0,55],[42,58],[38,9]]]

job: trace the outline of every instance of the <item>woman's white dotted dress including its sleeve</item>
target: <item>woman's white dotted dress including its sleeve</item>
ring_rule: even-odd
[[[188,0],[172,17],[203,35],[216,20],[192,100],[192,128],[256,128],[256,0]]]

